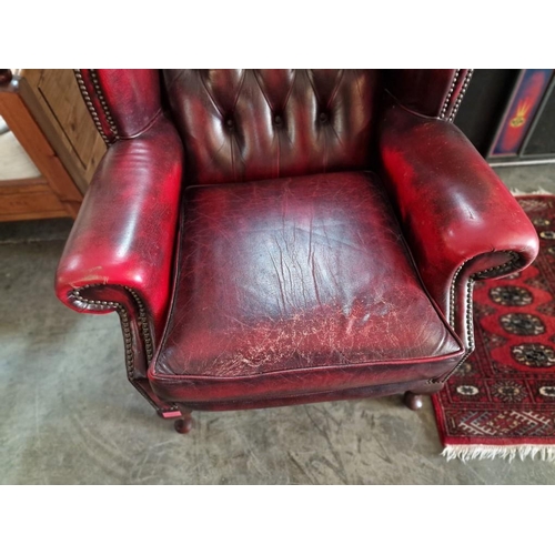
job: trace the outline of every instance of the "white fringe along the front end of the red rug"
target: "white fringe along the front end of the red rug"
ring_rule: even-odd
[[[447,445],[442,455],[447,461],[460,458],[468,461],[484,461],[486,458],[508,458],[511,463],[515,457],[524,461],[526,457],[534,460],[539,455],[541,461],[555,462],[555,445]]]

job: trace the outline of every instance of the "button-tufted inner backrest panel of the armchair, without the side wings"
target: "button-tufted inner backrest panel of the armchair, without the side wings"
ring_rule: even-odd
[[[375,70],[165,70],[191,183],[364,170]]]

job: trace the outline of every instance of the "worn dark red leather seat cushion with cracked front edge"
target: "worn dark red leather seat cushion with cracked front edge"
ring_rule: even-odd
[[[371,172],[190,186],[178,249],[149,370],[164,398],[401,383],[463,356]]]

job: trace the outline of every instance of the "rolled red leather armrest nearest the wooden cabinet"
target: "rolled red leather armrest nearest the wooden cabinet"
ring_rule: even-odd
[[[56,291],[63,303],[105,313],[129,299],[160,334],[170,297],[182,165],[181,140],[163,115],[140,137],[109,148],[58,266]]]

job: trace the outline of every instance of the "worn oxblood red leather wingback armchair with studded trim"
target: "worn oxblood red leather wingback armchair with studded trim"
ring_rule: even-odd
[[[452,120],[467,70],[80,70],[107,143],[57,294],[120,314],[128,376],[192,410],[438,391],[472,284],[534,228]]]

